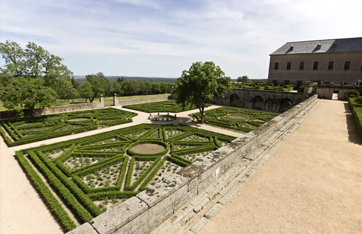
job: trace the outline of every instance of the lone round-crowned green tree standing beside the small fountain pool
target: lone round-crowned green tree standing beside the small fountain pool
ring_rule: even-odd
[[[203,124],[203,113],[206,103],[214,96],[224,97],[231,90],[231,78],[213,62],[195,62],[188,71],[183,71],[176,79],[174,91],[177,103],[196,106],[200,113],[200,123]]]

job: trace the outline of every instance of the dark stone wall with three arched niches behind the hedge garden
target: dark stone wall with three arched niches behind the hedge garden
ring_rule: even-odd
[[[226,92],[224,98],[214,97],[212,103],[270,112],[285,112],[313,95],[312,93],[233,88],[232,91]]]

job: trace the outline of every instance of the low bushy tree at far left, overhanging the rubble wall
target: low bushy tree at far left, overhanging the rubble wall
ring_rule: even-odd
[[[5,108],[16,110],[18,116],[24,115],[24,109],[50,106],[56,101],[56,92],[44,86],[43,79],[10,78],[0,89],[1,100]]]

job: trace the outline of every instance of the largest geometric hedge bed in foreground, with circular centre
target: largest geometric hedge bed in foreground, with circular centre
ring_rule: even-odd
[[[140,124],[16,152],[35,187],[67,231],[230,143],[235,137],[187,125]],[[147,152],[142,144],[155,144]],[[138,149],[143,152],[135,152]],[[59,194],[57,200],[33,164]]]

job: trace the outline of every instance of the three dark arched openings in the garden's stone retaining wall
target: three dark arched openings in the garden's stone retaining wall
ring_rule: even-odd
[[[239,96],[236,93],[233,93],[232,95],[230,95],[230,105],[231,106],[239,106]],[[291,100],[287,97],[281,99],[279,101],[279,103],[275,103],[275,104],[279,104],[279,112],[285,112],[286,110],[290,109],[292,106]],[[252,102],[252,109],[254,110],[264,110],[264,105],[265,105],[265,100],[262,96],[255,96],[253,98],[253,102]]]

